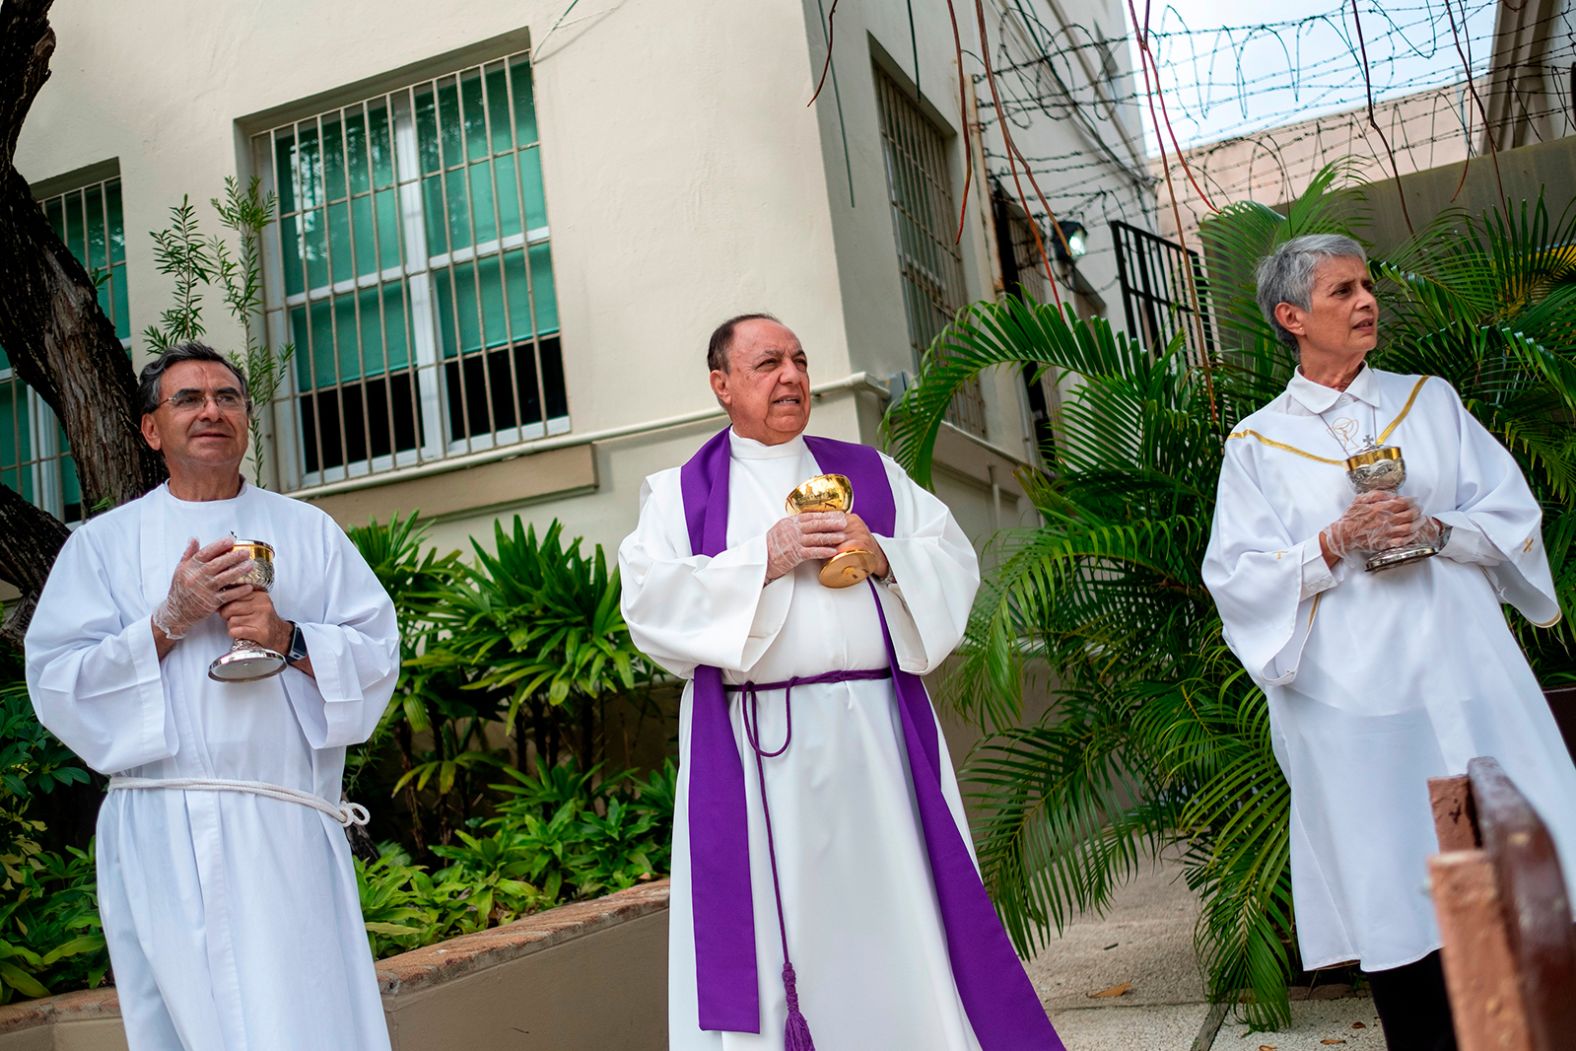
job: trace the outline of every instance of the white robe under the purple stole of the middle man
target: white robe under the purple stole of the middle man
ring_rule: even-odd
[[[692,679],[704,663],[722,668],[728,684],[886,668],[867,586],[824,588],[818,564],[763,586],[766,531],[786,514],[788,492],[821,473],[804,440],[764,446],[730,433],[730,443],[728,548],[716,558],[690,555],[679,468],[652,474],[641,488],[640,523],[618,553],[635,643],[673,674]],[[924,674],[961,638],[979,564],[946,504],[890,459],[883,463],[898,536],[878,537],[894,583],[876,591],[900,667]],[[692,695],[693,682],[679,712],[668,1043],[684,1051],[782,1048],[782,949],[739,693],[728,695],[728,711],[744,763],[761,1032],[698,1027],[689,878]],[[764,748],[782,744],[782,692],[760,695],[760,728]],[[793,742],[766,759],[790,955],[820,1051],[979,1048],[952,979],[905,755],[890,681],[867,681],[796,687]],[[968,843],[944,739],[941,756],[942,793]]]

